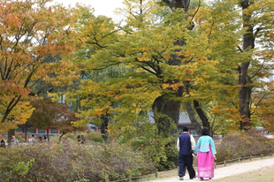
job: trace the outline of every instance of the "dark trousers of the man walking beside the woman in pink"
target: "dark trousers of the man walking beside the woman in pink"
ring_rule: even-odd
[[[179,177],[185,176],[186,168],[189,174],[189,178],[194,178],[196,172],[193,167],[193,155],[179,155]]]

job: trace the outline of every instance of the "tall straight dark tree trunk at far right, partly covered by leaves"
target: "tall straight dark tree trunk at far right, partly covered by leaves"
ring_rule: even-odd
[[[255,37],[253,27],[251,25],[251,14],[246,14],[244,11],[249,7],[249,0],[241,1],[243,11],[243,27],[247,28],[247,33],[243,35],[243,49],[249,51],[255,47]],[[251,126],[250,123],[250,98],[251,98],[251,84],[252,80],[248,76],[248,67],[250,61],[243,60],[239,68],[239,99],[240,99],[240,130],[248,130]]]

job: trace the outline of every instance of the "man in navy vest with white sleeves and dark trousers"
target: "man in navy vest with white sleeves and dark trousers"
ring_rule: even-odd
[[[183,127],[183,133],[179,135],[177,140],[177,148],[179,150],[179,180],[184,180],[186,168],[189,178],[196,178],[196,172],[193,167],[193,151],[195,149],[194,137],[189,134],[189,127]]]

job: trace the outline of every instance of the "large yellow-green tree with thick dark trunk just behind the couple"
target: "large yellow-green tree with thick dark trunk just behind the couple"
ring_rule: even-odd
[[[126,66],[132,71],[99,83],[83,80],[76,93],[88,110],[81,110],[81,116],[94,119],[111,113],[114,119],[109,131],[123,135],[135,131],[134,124],[141,122],[137,116],[152,106],[157,134],[165,139],[160,146],[166,148],[163,160],[176,163],[177,152],[171,142],[177,135],[181,103],[189,98],[184,86],[195,79],[200,64],[211,66],[204,49],[208,42],[191,31],[188,7],[175,7],[164,22],[157,22],[155,12],[162,7],[153,1],[139,3],[127,1],[125,27],[117,27],[103,16],[88,17],[84,13],[80,39],[85,43],[73,63],[84,72],[100,74],[110,66]],[[117,103],[115,107],[113,102]]]

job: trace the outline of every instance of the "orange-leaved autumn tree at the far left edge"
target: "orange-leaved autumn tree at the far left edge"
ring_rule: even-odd
[[[29,106],[27,96],[39,80],[65,85],[75,78],[65,56],[75,48],[70,25],[76,16],[60,5],[48,6],[49,2],[1,2],[1,124],[13,120],[17,125],[20,118],[14,116],[22,105]],[[22,111],[18,115],[24,116]]]

